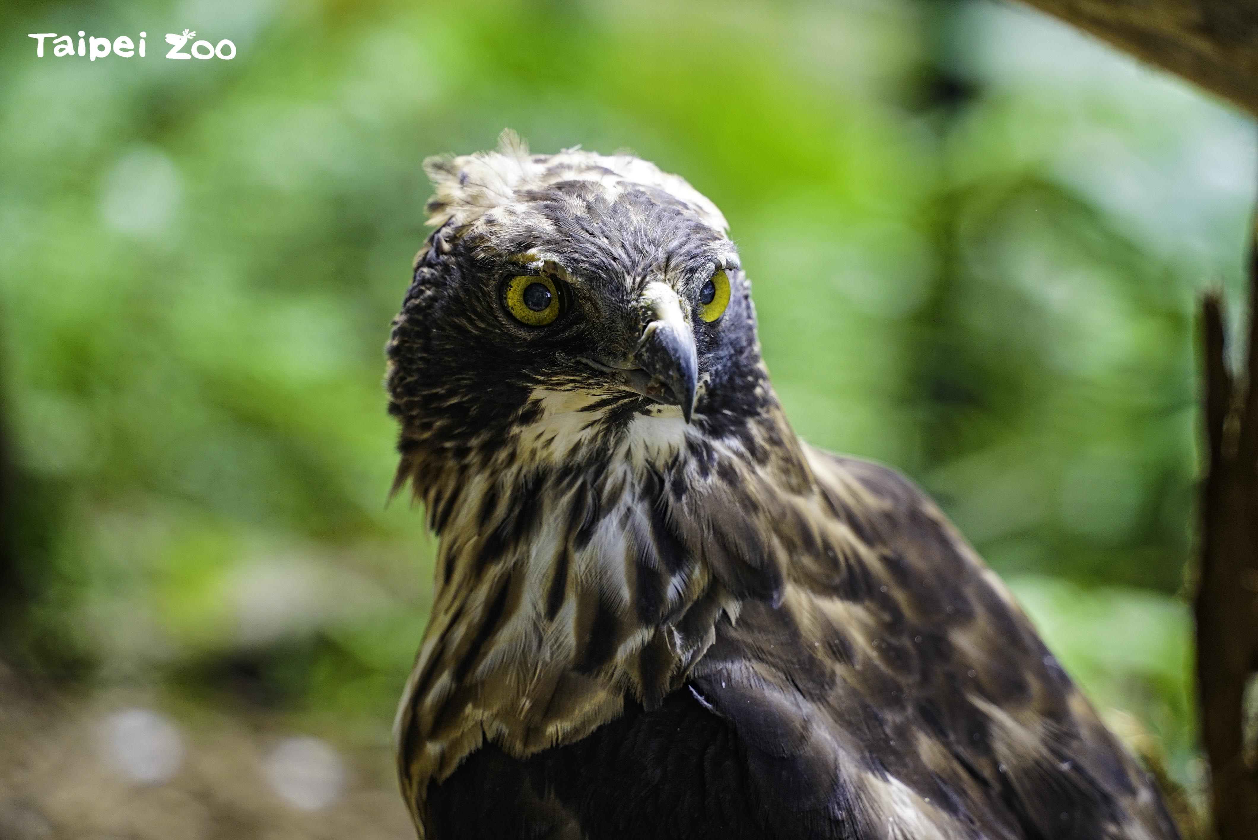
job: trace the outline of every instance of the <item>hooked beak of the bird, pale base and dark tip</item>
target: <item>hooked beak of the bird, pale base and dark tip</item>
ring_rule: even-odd
[[[694,414],[698,391],[698,352],[694,332],[682,313],[677,292],[664,283],[650,283],[643,293],[648,323],[633,352],[633,363],[645,381],[633,382],[635,391],[657,402],[677,405],[686,423]]]

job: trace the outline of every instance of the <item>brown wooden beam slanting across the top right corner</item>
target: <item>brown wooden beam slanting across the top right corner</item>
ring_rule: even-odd
[[[1258,116],[1258,0],[1025,0]]]

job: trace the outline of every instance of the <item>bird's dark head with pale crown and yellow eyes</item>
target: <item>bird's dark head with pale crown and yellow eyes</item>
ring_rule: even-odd
[[[437,230],[389,343],[403,465],[433,480],[522,463],[665,461],[737,434],[770,394],[716,206],[637,157],[430,158]]]

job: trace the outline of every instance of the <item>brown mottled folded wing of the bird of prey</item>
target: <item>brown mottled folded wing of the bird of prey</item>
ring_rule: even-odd
[[[791,557],[781,602],[720,625],[689,685],[735,733],[759,810],[793,826],[781,836],[1177,837],[938,508],[889,469],[808,459],[813,516],[848,538]]]

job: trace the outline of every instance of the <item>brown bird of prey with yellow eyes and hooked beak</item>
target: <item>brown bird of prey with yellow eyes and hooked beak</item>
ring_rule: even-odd
[[[938,507],[791,430],[708,199],[511,133],[424,166],[386,350],[439,539],[420,837],[1179,836]]]

